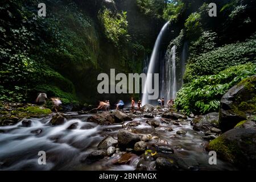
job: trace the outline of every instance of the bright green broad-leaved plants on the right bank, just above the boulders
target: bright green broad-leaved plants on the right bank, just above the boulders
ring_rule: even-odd
[[[187,114],[218,111],[223,94],[241,80],[255,74],[256,65],[247,63],[230,67],[217,75],[200,76],[185,84],[177,93],[176,108]]]

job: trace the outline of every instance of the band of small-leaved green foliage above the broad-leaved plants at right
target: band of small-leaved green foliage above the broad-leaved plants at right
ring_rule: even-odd
[[[213,75],[233,65],[256,63],[256,40],[250,39],[242,43],[228,44],[200,56],[189,59],[184,81],[202,75]]]

